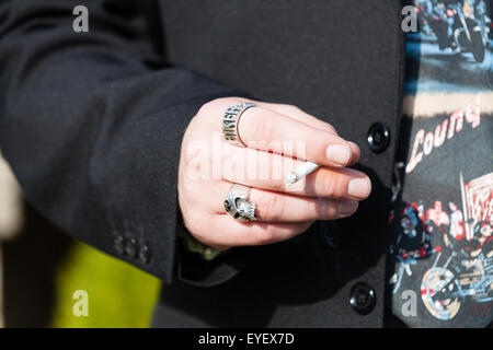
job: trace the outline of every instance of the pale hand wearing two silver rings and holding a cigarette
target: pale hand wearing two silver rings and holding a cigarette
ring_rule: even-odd
[[[268,161],[262,165],[268,167],[268,174],[276,171],[274,166],[279,161],[287,161],[284,158],[289,158],[294,166],[305,161],[322,166],[296,185],[284,184],[284,173],[278,178],[238,177],[228,172],[220,178],[190,176],[197,167],[196,159],[190,154],[193,142],[199,141],[213,149],[211,135],[220,136],[226,108],[243,102],[256,105],[243,113],[238,126],[241,140],[248,147],[240,148],[219,140],[227,150],[226,154],[220,155],[222,162],[234,161],[236,158],[266,159],[265,152],[271,151]],[[297,154],[296,148],[280,148],[286,141],[305,141],[302,158]],[[359,148],[341,138],[333,126],[296,106],[243,97],[214,100],[192,119],[182,142],[177,189],[185,226],[205,245],[227,249],[282,242],[303,233],[316,220],[349,217],[356,212],[358,202],[371,191],[368,176],[349,168],[359,155]],[[296,160],[293,161],[293,158]],[[214,161],[217,158],[207,160]],[[246,171],[249,161],[243,166]],[[250,166],[253,165],[250,163]],[[286,174],[291,170],[286,170]],[[223,200],[233,183],[252,187],[249,199],[256,203],[257,221],[240,222],[226,213]]]

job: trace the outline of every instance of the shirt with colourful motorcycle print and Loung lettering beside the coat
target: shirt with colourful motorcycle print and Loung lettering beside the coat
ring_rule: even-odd
[[[404,189],[389,220],[398,234],[388,283],[394,304],[415,293],[431,325],[474,326],[493,305],[491,5],[416,0],[414,9],[402,125],[410,144],[395,170]]]

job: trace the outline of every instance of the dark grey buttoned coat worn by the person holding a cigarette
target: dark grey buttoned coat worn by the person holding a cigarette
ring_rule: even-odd
[[[72,31],[78,4],[89,33]],[[156,326],[379,327],[403,42],[395,0],[1,1],[0,144],[46,218],[165,282]],[[213,262],[184,252],[180,142],[230,95],[297,105],[357,142],[374,184],[357,214]]]

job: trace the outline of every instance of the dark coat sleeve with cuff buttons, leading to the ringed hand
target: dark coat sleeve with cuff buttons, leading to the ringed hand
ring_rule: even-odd
[[[76,33],[72,10],[89,10]],[[0,144],[27,199],[73,237],[170,282],[180,143],[239,93],[167,65],[151,1],[0,0]]]

